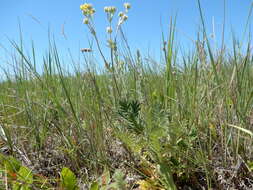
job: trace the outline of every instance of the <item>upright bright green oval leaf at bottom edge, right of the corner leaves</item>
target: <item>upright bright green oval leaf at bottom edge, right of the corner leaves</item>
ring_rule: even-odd
[[[64,167],[61,171],[61,187],[66,190],[76,190],[77,180],[75,174]]]

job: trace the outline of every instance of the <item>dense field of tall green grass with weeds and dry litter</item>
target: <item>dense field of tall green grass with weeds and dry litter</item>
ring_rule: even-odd
[[[71,73],[52,41],[43,63],[33,46],[27,55],[22,40],[11,41],[13,71],[0,83],[0,189],[252,188],[251,42],[246,51],[236,40],[232,51],[214,49],[199,9],[195,49],[179,58],[172,19],[159,63],[132,52],[123,33],[123,48],[109,37],[107,60],[92,25],[102,71],[92,52]]]

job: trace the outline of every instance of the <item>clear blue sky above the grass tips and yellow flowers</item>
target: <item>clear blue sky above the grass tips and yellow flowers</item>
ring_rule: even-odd
[[[94,20],[100,40],[105,44],[107,26],[104,6],[114,5],[123,10],[122,0],[1,0],[0,2],[0,44],[9,47],[7,37],[19,39],[20,22],[23,38],[27,48],[34,40],[37,49],[46,51],[48,28],[54,34],[60,49],[70,48],[79,52],[80,48],[88,46],[89,37],[80,4],[92,3],[96,9]],[[177,38],[184,46],[191,46],[189,38],[196,39],[200,26],[197,0],[129,0],[132,8],[129,20],[124,24],[124,31],[130,45],[144,52],[156,54],[161,44],[161,31],[167,32],[169,19],[177,14]],[[252,0],[226,0],[226,36],[231,37],[231,28],[238,37],[247,20]],[[208,33],[211,33],[212,19],[217,39],[221,36],[223,23],[223,0],[201,0]],[[162,28],[161,28],[162,25]],[[67,39],[62,35],[64,33]],[[252,27],[251,27],[252,28]],[[64,50],[63,50],[64,51]],[[0,57],[3,55],[0,50]]]

